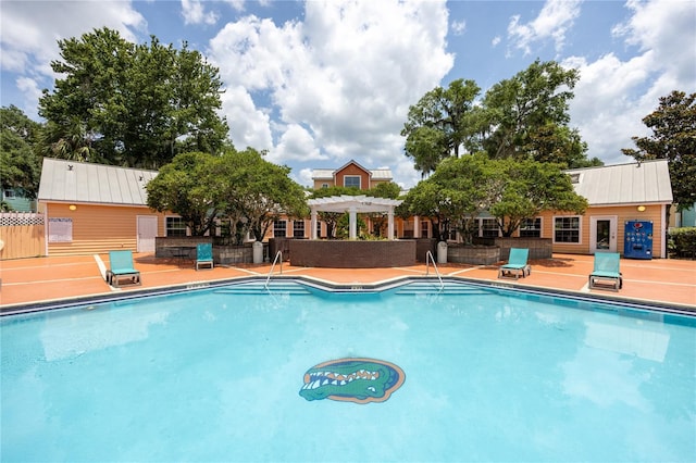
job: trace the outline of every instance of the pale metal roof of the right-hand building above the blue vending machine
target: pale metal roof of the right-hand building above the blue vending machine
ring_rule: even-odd
[[[575,192],[591,205],[672,202],[667,160],[566,171],[576,183]]]

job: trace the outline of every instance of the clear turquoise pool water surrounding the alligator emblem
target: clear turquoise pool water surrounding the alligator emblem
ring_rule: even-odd
[[[693,317],[469,285],[234,285],[0,320],[3,462],[694,461]],[[306,400],[334,359],[388,400]]]

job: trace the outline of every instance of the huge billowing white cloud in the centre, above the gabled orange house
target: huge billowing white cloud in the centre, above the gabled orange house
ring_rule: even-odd
[[[273,133],[269,159],[301,152],[303,161],[359,159],[396,170],[412,164],[399,135],[409,105],[452,67],[447,16],[444,2],[310,1],[303,22],[247,16],[226,24],[209,57],[224,82],[244,86],[256,107],[273,108],[271,120],[256,121]],[[234,108],[227,99],[225,111]],[[235,116],[227,118],[234,126]]]

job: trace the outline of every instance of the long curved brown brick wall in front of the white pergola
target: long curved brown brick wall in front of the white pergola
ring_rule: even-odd
[[[415,264],[415,241],[289,240],[290,263],[307,267],[376,268]]]

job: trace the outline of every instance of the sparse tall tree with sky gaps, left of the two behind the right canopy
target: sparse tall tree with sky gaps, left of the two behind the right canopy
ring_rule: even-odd
[[[480,91],[473,80],[457,79],[446,89],[435,87],[409,108],[401,136],[407,137],[406,155],[419,171],[427,174],[443,159],[458,158],[462,148],[476,149],[474,99]]]

